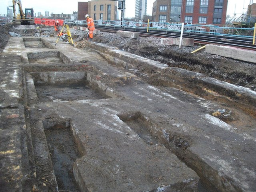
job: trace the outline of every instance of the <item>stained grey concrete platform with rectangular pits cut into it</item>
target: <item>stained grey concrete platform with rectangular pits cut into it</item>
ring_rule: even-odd
[[[250,105],[255,112],[254,92],[102,44],[88,42],[92,49],[80,50],[52,47],[54,40],[44,38],[48,48],[37,49],[10,38],[0,55],[5,191],[62,190],[53,171],[56,149],[46,134],[54,130],[73,135],[79,155],[72,171],[82,191],[197,191],[198,176],[215,191],[256,190],[256,122],[244,110]],[[160,86],[145,81],[152,69]],[[74,84],[102,98],[68,99],[79,92]],[[58,97],[45,90],[48,101],[38,97],[38,87],[57,85],[71,91]],[[229,93],[205,100],[189,88]],[[241,118],[224,122],[212,115],[223,107]]]

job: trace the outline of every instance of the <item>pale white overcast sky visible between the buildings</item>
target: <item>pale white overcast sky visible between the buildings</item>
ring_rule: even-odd
[[[50,14],[71,14],[77,11],[77,2],[88,2],[88,0],[21,0],[22,9],[34,8],[34,13],[41,12],[43,15],[45,11]],[[152,5],[155,0],[148,0],[147,14],[152,15]],[[134,17],[135,0],[126,0],[126,18]],[[256,3],[256,0],[253,0]],[[228,0],[227,14],[233,16],[234,13],[242,14],[247,11],[250,0]],[[0,14],[6,14],[6,8],[12,6],[12,0],[0,0]],[[11,7],[10,7],[11,8]]]

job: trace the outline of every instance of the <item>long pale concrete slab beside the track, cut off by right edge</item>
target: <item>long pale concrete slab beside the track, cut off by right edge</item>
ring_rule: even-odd
[[[208,44],[205,51],[210,54],[256,63],[256,51],[253,50]]]

